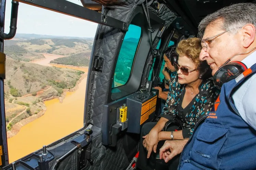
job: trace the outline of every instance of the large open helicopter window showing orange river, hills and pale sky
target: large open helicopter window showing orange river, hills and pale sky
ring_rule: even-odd
[[[7,29],[11,2],[6,1]],[[84,126],[86,77],[98,25],[24,3],[19,7],[17,33],[4,41],[10,162]],[[28,11],[33,15],[27,17]]]

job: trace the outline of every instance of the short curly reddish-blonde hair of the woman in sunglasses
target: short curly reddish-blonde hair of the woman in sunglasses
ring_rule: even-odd
[[[201,49],[201,40],[199,38],[188,38],[178,43],[176,52],[179,56],[187,56],[199,67],[201,63],[199,60]]]

